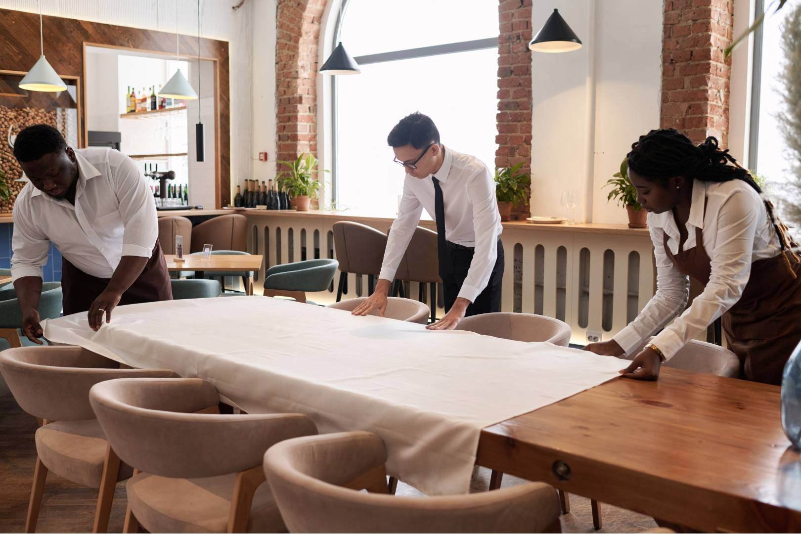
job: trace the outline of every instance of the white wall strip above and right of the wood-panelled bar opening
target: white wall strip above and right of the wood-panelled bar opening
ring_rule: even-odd
[[[251,154],[254,128],[260,143],[275,153],[275,117],[255,117],[252,106],[252,73],[254,62],[266,62],[275,70],[275,0],[246,0],[238,10],[231,6],[238,0],[200,0],[201,35],[229,42],[231,78],[231,190],[236,183],[252,176]],[[268,5],[265,9],[264,5]],[[256,7],[257,6],[257,7]],[[269,8],[272,6],[272,10]],[[0,0],[0,8],[38,13],[36,0]],[[177,8],[177,19],[176,19]],[[260,15],[254,18],[255,11]],[[79,18],[92,22],[131,26],[147,30],[196,35],[196,0],[42,0],[42,13],[57,17]],[[254,50],[254,30],[264,50]],[[272,44],[270,40],[272,38]],[[45,35],[47,54],[47,35]],[[272,78],[260,72],[260,94],[275,98],[275,74]],[[258,163],[258,162],[256,162]]]

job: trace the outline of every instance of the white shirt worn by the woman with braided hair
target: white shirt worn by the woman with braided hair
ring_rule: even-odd
[[[627,355],[674,319],[689,298],[690,280],[674,267],[663,243],[667,235],[670,251],[678,253],[679,235],[673,212],[648,214],[648,227],[654,242],[657,291],[637,319],[613,338]],[[651,341],[667,359],[737,303],[751,275],[751,263],[781,252],[763,199],[742,180],[723,183],[694,180],[686,228],[682,251],[698,245],[695,229],[700,228],[701,246],[709,255],[711,274],[709,283],[690,307]]]

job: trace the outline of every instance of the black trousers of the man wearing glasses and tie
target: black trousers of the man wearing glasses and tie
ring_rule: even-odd
[[[472,247],[462,247],[456,243],[446,242],[445,265],[440,266],[442,288],[445,293],[445,311],[448,311],[456,302],[461,290],[461,284],[467,278],[470,262],[473,261]],[[489,275],[489,283],[476,299],[467,307],[465,317],[481,313],[501,311],[501,282],[503,281],[504,255],[503,244],[498,239],[497,259],[493,272]]]

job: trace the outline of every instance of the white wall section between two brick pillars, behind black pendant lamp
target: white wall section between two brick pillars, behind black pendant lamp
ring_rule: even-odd
[[[584,46],[532,53],[532,215],[562,215],[575,188],[575,219],[626,223],[602,188],[638,135],[659,125],[662,2],[534,2],[534,33],[557,8]]]

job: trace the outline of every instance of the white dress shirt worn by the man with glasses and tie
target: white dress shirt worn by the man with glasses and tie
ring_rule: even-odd
[[[379,278],[392,280],[412,239],[425,207],[436,220],[434,183],[436,176],[445,203],[445,239],[464,247],[475,247],[473,261],[459,296],[473,302],[487,287],[497,259],[501,215],[495,197],[495,180],[481,160],[454,152],[442,145],[445,160],[440,170],[424,179],[406,175],[398,217],[392,223]]]

